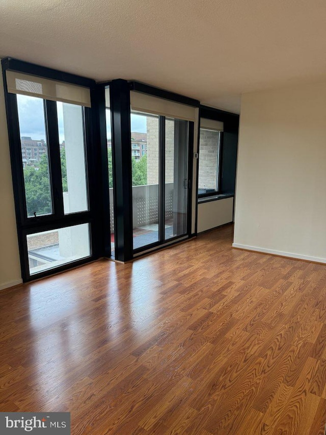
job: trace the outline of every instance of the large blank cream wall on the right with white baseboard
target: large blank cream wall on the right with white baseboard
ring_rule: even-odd
[[[326,82],[242,95],[235,247],[326,262]]]

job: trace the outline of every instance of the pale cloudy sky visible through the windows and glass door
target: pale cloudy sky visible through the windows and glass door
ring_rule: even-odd
[[[34,140],[43,139],[46,141],[43,100],[26,95],[17,95],[17,104],[20,136],[29,136]],[[65,139],[62,103],[59,103],[57,107],[59,141],[61,143]],[[131,132],[146,133],[146,131],[146,116],[131,114]],[[106,110],[106,133],[107,138],[111,139],[111,119],[108,110]]]

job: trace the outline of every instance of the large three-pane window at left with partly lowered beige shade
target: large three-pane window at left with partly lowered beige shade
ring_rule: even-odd
[[[6,78],[22,275],[29,280],[93,255],[90,89],[10,69]]]

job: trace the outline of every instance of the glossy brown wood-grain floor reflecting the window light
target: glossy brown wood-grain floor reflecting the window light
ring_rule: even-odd
[[[0,293],[0,411],[73,435],[317,435],[326,266],[231,248],[232,226]]]

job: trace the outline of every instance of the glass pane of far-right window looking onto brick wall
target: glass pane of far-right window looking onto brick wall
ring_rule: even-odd
[[[219,190],[220,132],[200,129],[198,194]]]

